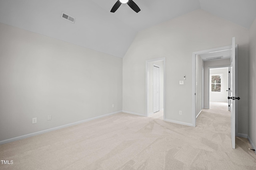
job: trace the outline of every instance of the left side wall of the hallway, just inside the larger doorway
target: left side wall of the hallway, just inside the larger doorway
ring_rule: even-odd
[[[204,61],[196,55],[196,116],[202,110],[202,67],[204,67]]]

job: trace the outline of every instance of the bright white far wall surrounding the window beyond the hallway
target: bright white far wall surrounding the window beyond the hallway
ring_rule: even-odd
[[[211,74],[222,74],[222,92],[211,92]],[[228,102],[228,68],[210,69],[209,78],[210,101]]]

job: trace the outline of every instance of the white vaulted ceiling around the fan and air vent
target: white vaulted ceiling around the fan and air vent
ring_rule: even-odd
[[[0,0],[0,22],[103,53],[123,57],[136,33],[202,9],[247,29],[256,18],[256,0],[133,0],[134,12],[117,0]],[[61,18],[62,12],[76,18]]]

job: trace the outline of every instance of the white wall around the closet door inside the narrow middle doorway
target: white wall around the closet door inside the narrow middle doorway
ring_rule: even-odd
[[[159,69],[159,109],[164,109],[164,61],[152,61],[148,63],[149,65],[149,104],[148,104],[148,114],[153,113],[153,64],[160,66]]]

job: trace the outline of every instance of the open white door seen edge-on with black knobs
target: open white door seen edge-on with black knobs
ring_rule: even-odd
[[[236,148],[236,55],[237,46],[235,44],[235,37],[232,38],[232,50],[231,50],[231,66],[230,66],[230,110],[231,110],[231,142],[232,148]]]

